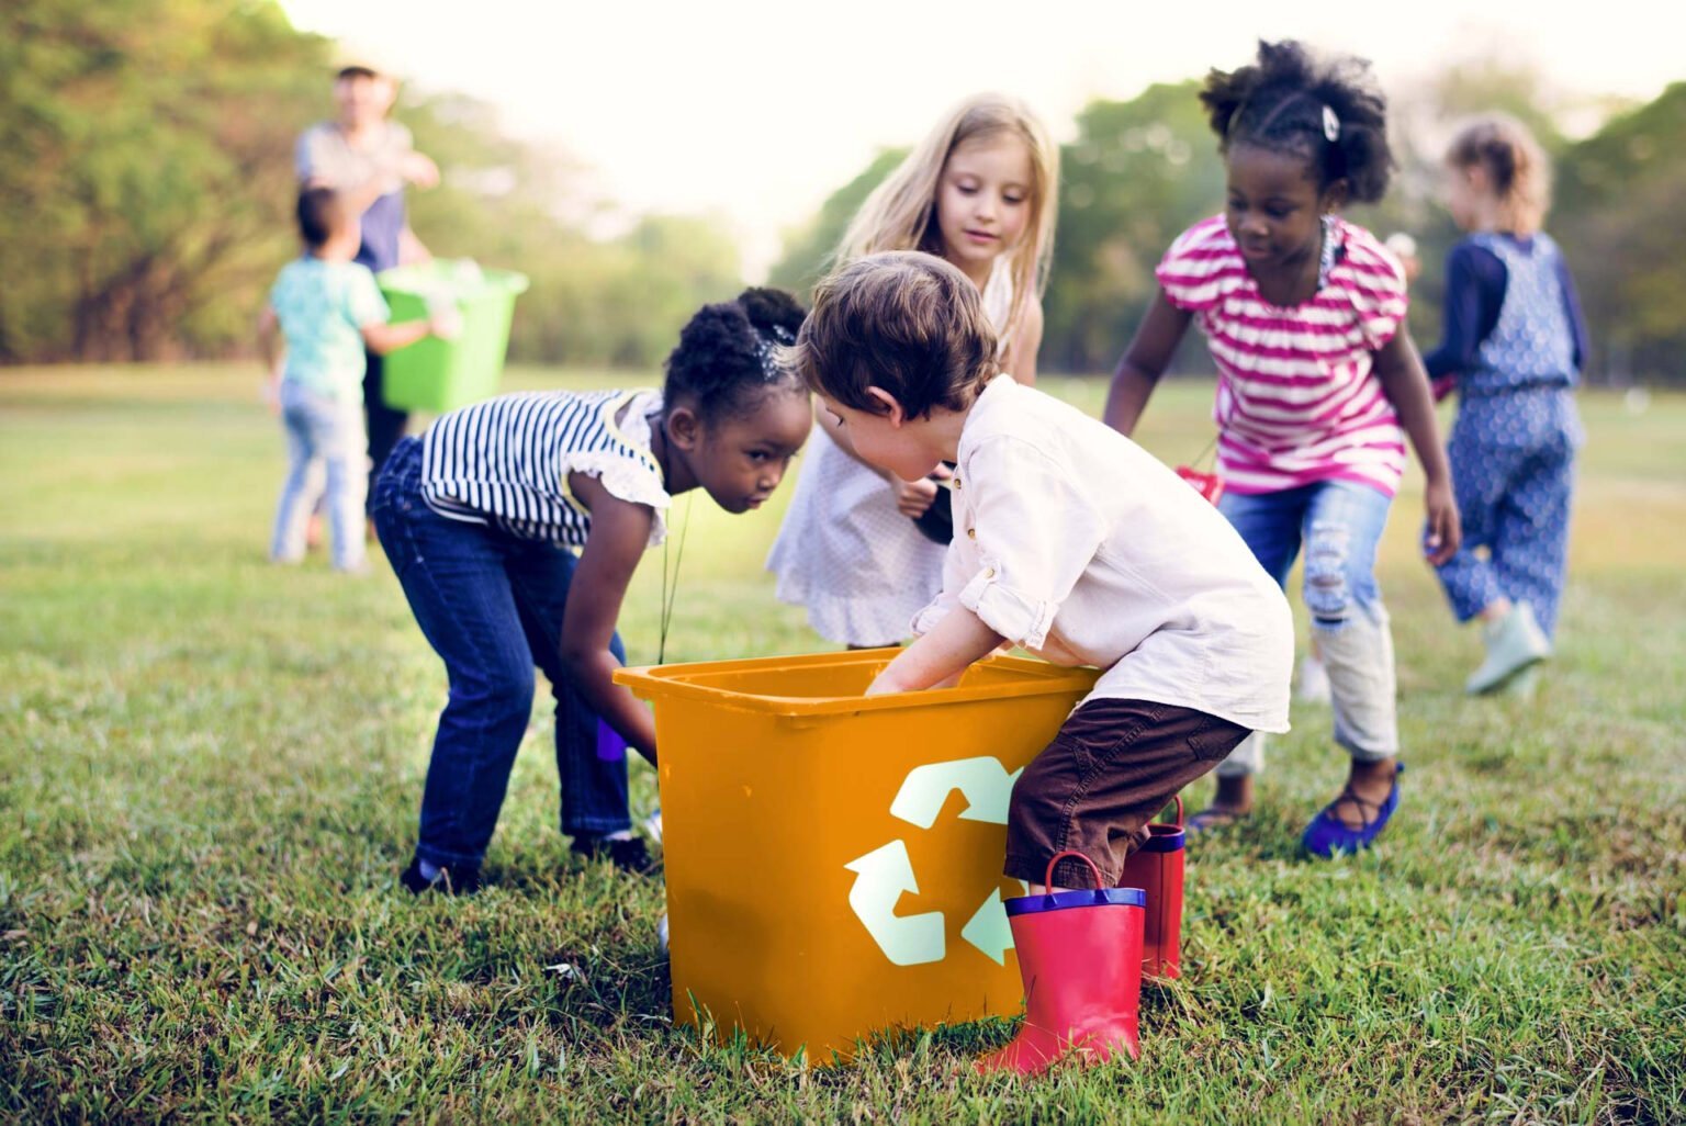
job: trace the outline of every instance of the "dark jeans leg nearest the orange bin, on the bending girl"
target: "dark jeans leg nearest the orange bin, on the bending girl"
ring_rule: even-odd
[[[561,831],[568,836],[619,833],[632,828],[626,742],[599,718],[561,664],[561,619],[575,566],[578,560],[565,548],[523,544],[513,553],[509,580],[528,646],[556,700]],[[609,649],[626,661],[619,635],[610,637]]]

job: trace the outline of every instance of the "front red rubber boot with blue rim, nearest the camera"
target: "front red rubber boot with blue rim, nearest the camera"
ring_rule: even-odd
[[[1096,890],[1023,895],[1007,900],[1018,973],[1025,979],[1025,1023],[998,1052],[978,1060],[980,1072],[1040,1075],[1072,1055],[1101,1064],[1114,1052],[1135,1059],[1140,1048],[1136,1010],[1141,1001],[1141,903],[1138,888],[1103,888],[1099,868],[1082,853],[1059,853],[1054,865],[1077,856],[1094,870]]]

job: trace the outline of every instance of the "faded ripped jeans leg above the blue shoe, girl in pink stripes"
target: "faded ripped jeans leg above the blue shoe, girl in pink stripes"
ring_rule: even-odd
[[[1393,627],[1376,583],[1376,546],[1393,499],[1330,480],[1305,512],[1305,609],[1329,669],[1335,742],[1359,762],[1399,752]]]

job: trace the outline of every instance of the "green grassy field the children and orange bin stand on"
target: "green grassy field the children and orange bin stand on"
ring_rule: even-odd
[[[1168,386],[1143,442],[1195,453],[1207,399]],[[1396,826],[1295,856],[1344,770],[1327,711],[1297,713],[1259,814],[1190,853],[1187,976],[1148,988],[1141,1060],[1022,1086],[964,1067],[1005,1021],[813,1070],[671,1027],[661,883],[570,858],[541,711],[494,887],[395,890],[443,674],[384,565],[263,561],[282,440],[255,369],[0,371],[0,1118],[1683,1121],[1686,399],[1583,408],[1541,693],[1460,694],[1477,639],[1413,556],[1408,489]],[[696,504],[669,659],[819,647],[760,570],[782,499]]]

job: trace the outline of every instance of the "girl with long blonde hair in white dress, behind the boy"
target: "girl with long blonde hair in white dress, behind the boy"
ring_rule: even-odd
[[[867,199],[836,265],[885,249],[953,263],[983,293],[1001,367],[1032,384],[1057,187],[1059,148],[1042,121],[1015,98],[968,98]],[[835,420],[818,420],[767,568],[779,600],[808,607],[826,641],[897,644],[942,585],[948,494],[867,465]]]

